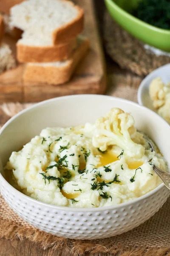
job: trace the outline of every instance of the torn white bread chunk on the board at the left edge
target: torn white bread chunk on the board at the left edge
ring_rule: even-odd
[[[5,70],[16,67],[16,61],[8,44],[2,43],[0,46],[0,74]]]

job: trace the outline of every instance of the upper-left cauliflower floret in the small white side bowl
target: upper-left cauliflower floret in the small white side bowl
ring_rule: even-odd
[[[149,95],[153,100],[153,107],[160,108],[165,103],[164,83],[160,77],[153,79],[149,86]]]

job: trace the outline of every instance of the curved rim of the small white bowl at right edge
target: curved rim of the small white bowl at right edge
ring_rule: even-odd
[[[143,80],[142,82],[140,83],[139,85],[139,88],[138,88],[138,92],[137,92],[137,100],[138,100],[138,103],[139,105],[145,107],[145,105],[143,104],[143,101],[142,101],[142,91],[145,87],[145,84],[147,82],[148,79],[150,79],[150,77],[154,76],[154,74],[157,73],[158,70],[161,70],[161,69],[164,69],[165,67],[170,67],[170,63],[168,64],[165,64],[161,67],[158,67],[156,70],[153,70],[152,72],[150,72]],[[154,111],[153,111],[154,112]],[[160,116],[161,117],[161,116]],[[161,117],[162,118],[162,117]],[[162,118],[163,119],[163,118]],[[166,122],[166,121],[165,121]]]

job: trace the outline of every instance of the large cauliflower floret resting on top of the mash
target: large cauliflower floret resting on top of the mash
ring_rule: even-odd
[[[104,117],[96,120],[92,139],[94,147],[101,151],[109,145],[118,145],[129,157],[142,158],[144,147],[131,140],[130,134],[135,133],[134,119],[129,113],[119,108],[112,108]]]

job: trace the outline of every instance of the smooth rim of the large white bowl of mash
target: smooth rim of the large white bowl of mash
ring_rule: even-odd
[[[127,99],[122,99],[122,98],[118,98],[118,97],[113,97],[113,96],[107,96],[107,95],[97,95],[97,94],[79,94],[79,95],[69,95],[69,96],[61,96],[61,97],[56,97],[56,98],[52,98],[52,99],[48,99],[48,100],[45,100],[45,101],[42,101],[42,102],[39,102],[39,103],[36,103],[34,104],[33,106],[31,107],[28,107],[22,111],[20,111],[19,113],[17,113],[15,116],[11,117],[4,125],[3,127],[0,129],[0,136],[2,134],[2,132],[6,129],[6,127],[14,120],[16,119],[17,117],[23,115],[24,113],[26,113],[27,111],[30,111],[34,108],[37,108],[39,107],[40,105],[44,105],[48,102],[54,102],[56,100],[62,100],[62,99],[69,99],[69,98],[79,98],[79,97],[83,97],[83,98],[88,98],[88,97],[91,97],[91,98],[106,98],[108,100],[117,100],[117,101],[120,101],[120,102],[127,102],[127,103],[130,103],[131,105],[133,105],[134,107],[137,107],[137,108],[144,108],[146,109],[148,112],[150,112],[151,114],[155,115],[155,116],[158,116],[158,114],[156,114],[154,111],[150,110],[149,108],[146,108],[144,106],[141,106],[139,104],[137,104],[136,102],[132,102],[130,100],[127,100]],[[167,124],[167,122],[161,118],[159,116],[159,118],[161,119],[161,122],[164,122],[165,125],[168,126],[168,128],[170,129],[170,125]],[[8,181],[3,177],[3,175],[0,173],[0,179],[3,180],[3,183],[6,184],[6,187],[9,187],[9,189],[12,189],[13,192],[15,194],[17,194],[17,196],[20,198],[20,197],[23,197],[25,198],[26,200],[30,201],[30,202],[33,202],[33,203],[37,203],[37,204],[41,204],[43,207],[50,207],[50,208],[53,208],[53,209],[58,209],[58,210],[64,210],[64,211],[74,211],[74,212],[101,212],[101,211],[107,211],[107,210],[116,210],[118,208],[121,208],[121,207],[127,207],[127,206],[130,206],[131,204],[135,204],[137,202],[140,202],[146,198],[149,198],[150,196],[154,195],[156,192],[158,192],[160,189],[162,189],[164,186],[163,183],[161,183],[159,186],[157,186],[155,189],[151,190],[150,192],[148,192],[147,194],[145,195],[142,195],[141,197],[139,198],[136,198],[132,201],[128,201],[126,203],[122,203],[122,204],[115,204],[113,206],[108,206],[108,207],[92,207],[92,208],[79,208],[79,207],[66,207],[66,206],[57,206],[57,205],[53,205],[53,204],[48,204],[48,203],[44,203],[42,201],[39,201],[39,200],[36,200],[34,198],[31,198],[29,197],[28,195],[25,195],[23,194],[22,192],[18,191],[17,189],[15,189],[13,186],[11,186],[11,184],[8,183]]]

